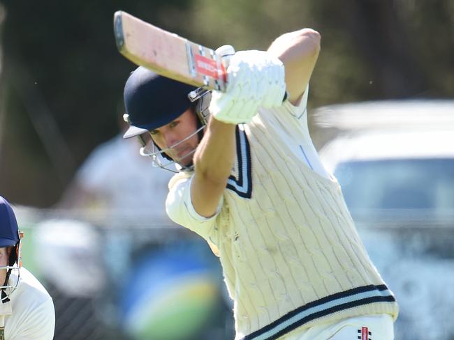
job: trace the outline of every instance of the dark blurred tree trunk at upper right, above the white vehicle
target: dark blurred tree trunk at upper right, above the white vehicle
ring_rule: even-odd
[[[339,6],[358,53],[372,71],[370,77],[386,98],[402,98],[424,90],[424,72],[417,65],[405,22],[393,0],[355,0]]]

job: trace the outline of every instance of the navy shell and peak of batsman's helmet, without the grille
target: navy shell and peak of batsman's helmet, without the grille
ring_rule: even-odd
[[[123,137],[134,137],[170,123],[193,106],[188,95],[195,90],[194,86],[139,66],[124,86],[124,106],[130,127]]]

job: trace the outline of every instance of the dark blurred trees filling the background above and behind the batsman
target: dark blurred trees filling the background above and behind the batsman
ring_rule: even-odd
[[[0,104],[6,105],[2,125],[7,127],[0,140],[0,191],[17,203],[54,204],[89,152],[118,132],[122,88],[135,68],[115,47],[112,15],[119,9],[210,47],[265,49],[286,31],[307,26],[320,31],[312,107],[454,94],[451,0],[8,0],[4,5],[8,95]]]

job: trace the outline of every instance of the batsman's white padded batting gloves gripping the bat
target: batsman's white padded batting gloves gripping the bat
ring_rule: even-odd
[[[224,123],[249,123],[258,107],[281,105],[284,65],[264,51],[240,51],[229,58],[226,92],[212,92],[210,112]]]

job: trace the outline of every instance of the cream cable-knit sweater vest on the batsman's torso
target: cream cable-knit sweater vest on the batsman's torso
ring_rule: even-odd
[[[370,285],[386,288],[358,237],[337,181],[310,170],[279,143],[279,136],[292,127],[284,129],[277,117],[292,108],[286,103],[262,111],[245,125],[251,144],[252,195],[244,199],[226,190],[212,235],[235,300],[236,339],[254,332],[261,335],[263,327],[325,297]],[[345,295],[353,299],[353,293]],[[348,300],[358,305],[333,309],[306,323],[299,320],[279,334],[321,319],[378,313],[397,317],[397,304],[388,294],[388,301]],[[268,335],[247,339],[277,339]]]

